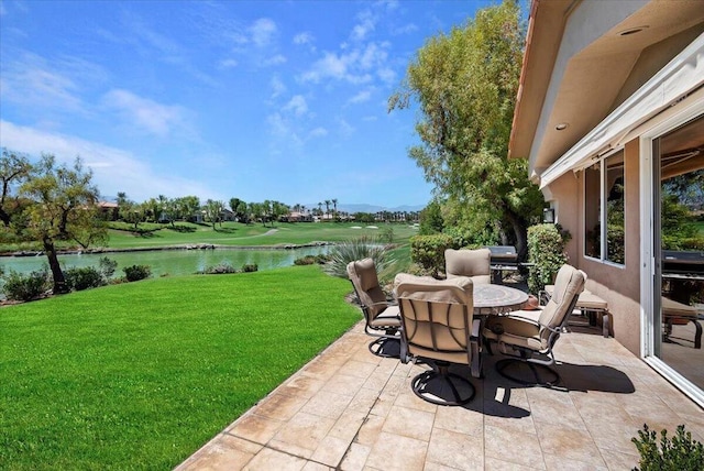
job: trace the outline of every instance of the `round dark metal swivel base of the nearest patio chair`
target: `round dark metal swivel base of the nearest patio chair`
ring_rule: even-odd
[[[410,382],[414,393],[424,401],[440,406],[461,406],[474,398],[475,390],[470,380],[448,371],[449,364],[436,363],[436,368],[415,376]]]

